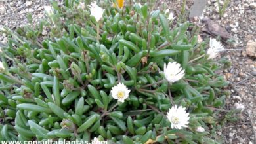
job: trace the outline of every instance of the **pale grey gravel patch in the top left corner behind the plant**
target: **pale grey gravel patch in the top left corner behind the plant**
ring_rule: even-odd
[[[16,29],[28,24],[28,13],[32,14],[33,24],[37,24],[44,16],[45,5],[50,5],[49,0],[0,0],[0,29],[1,27]],[[0,35],[0,42],[6,41],[5,35]]]

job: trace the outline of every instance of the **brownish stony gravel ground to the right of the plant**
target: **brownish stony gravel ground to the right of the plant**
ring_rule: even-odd
[[[223,18],[219,18],[218,11],[217,1],[210,0],[204,16],[218,22],[232,35],[234,44],[226,45],[227,49],[238,49],[222,54],[232,62],[230,69],[223,71],[223,75],[231,83],[232,92],[227,99],[226,109],[231,109],[237,102],[245,106],[240,114],[240,121],[228,123],[228,128],[223,129],[222,133],[225,143],[255,143],[256,53],[253,48],[250,52],[246,50],[248,43],[251,46],[256,41],[255,0],[230,1]]]

